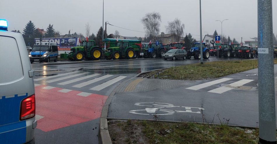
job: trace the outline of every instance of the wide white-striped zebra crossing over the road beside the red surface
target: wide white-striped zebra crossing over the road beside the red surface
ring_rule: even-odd
[[[35,78],[34,81],[43,81],[43,83],[57,84],[61,86],[69,86],[76,88],[88,88],[89,90],[101,91],[102,89],[105,89],[123,80],[126,77],[127,76],[123,75],[103,75],[101,73],[73,71],[52,76]]]

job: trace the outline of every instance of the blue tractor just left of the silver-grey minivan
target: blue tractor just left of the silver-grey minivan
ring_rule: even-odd
[[[158,45],[156,43],[149,44],[149,48],[145,48],[143,50],[143,57],[144,58],[157,58],[162,57],[165,53],[165,49],[162,43]]]

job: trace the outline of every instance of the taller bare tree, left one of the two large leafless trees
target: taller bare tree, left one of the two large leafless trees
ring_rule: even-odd
[[[159,12],[151,12],[145,14],[145,17],[141,19],[141,22],[144,26],[146,32],[145,37],[149,37],[151,40],[154,40],[155,37],[159,34],[160,26],[162,22],[162,17]]]

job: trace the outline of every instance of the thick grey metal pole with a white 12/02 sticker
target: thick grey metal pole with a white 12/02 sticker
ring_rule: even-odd
[[[259,144],[276,144],[272,0],[258,0]]]

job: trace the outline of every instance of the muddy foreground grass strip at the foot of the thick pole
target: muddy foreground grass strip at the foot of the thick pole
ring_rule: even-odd
[[[258,129],[197,123],[110,120],[113,143],[120,144],[256,144]]]

